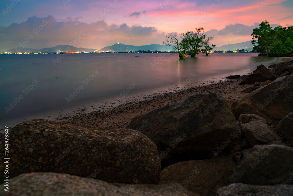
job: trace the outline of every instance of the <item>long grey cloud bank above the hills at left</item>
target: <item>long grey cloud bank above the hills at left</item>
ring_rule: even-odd
[[[132,45],[142,44],[145,40],[158,42],[157,29],[144,23],[129,26],[127,24],[107,24],[104,20],[91,24],[80,22],[81,17],[67,17],[59,21],[49,15],[45,18],[32,16],[20,24],[13,23],[0,29],[0,51],[19,47],[27,42],[25,48],[41,49],[57,45],[70,45],[81,32],[85,37],[76,45],[83,48],[103,48],[131,38]],[[45,26],[44,21],[47,21]],[[37,29],[36,29],[37,28]],[[131,34],[132,33],[132,34]],[[135,36],[134,36],[135,35]],[[29,38],[30,37],[30,38]],[[153,39],[153,40],[151,40]]]

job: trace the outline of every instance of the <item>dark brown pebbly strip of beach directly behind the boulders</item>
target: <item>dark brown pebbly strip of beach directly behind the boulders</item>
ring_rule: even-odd
[[[168,92],[156,95],[144,95],[143,100],[137,100],[120,104],[105,111],[93,111],[87,114],[64,117],[62,119],[54,119],[58,122],[88,126],[92,128],[125,128],[134,116],[148,113],[151,110],[162,107],[168,103],[184,100],[191,93],[220,93],[227,101],[239,101],[248,93],[239,91],[253,86],[253,84],[239,85],[240,80],[230,79],[227,81],[219,81],[202,86],[195,86],[179,90],[177,92]]]

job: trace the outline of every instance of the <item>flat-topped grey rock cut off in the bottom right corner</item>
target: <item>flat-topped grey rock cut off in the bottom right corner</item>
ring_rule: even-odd
[[[246,185],[234,183],[217,190],[217,196],[292,196],[293,185]]]

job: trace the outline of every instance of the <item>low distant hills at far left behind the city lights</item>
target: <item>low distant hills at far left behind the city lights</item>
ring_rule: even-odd
[[[55,46],[52,48],[42,48],[40,50],[33,49],[33,48],[23,48],[23,49],[18,48],[19,50],[16,51],[16,49],[13,48],[13,49],[9,49],[9,50],[2,51],[2,52],[12,52],[12,53],[13,52],[23,52],[23,53],[24,52],[57,52],[57,51],[69,52],[66,50],[67,47],[70,48],[70,52],[93,52],[96,50],[93,48],[76,48],[74,46],[69,46],[69,45],[58,45],[58,46]]]

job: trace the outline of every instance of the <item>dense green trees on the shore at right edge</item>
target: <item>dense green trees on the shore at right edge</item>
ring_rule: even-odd
[[[253,29],[251,43],[253,50],[270,57],[293,56],[293,26],[277,26],[274,29],[268,21]]]

